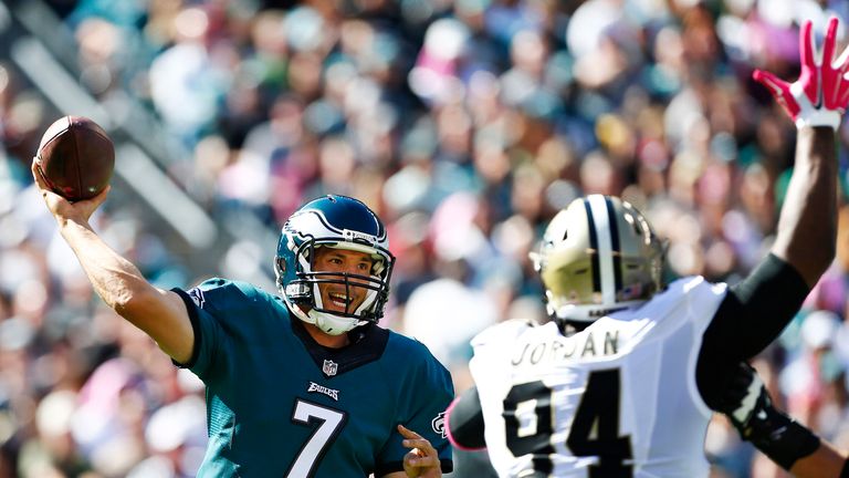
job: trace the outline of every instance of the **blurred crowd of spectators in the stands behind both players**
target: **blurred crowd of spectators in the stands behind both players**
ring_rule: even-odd
[[[80,83],[158,118],[187,153],[166,173],[212,218],[273,231],[323,194],[371,206],[398,257],[384,324],[424,342],[458,392],[474,333],[544,320],[527,252],[578,195],[641,209],[668,240],[667,280],[744,277],[795,147],[752,70],[795,79],[801,20],[849,20],[826,0],[45,4],[73,33]],[[96,299],[31,186],[48,111],[0,59],[0,478],[193,476],[202,385]],[[849,190],[849,126],[839,137]],[[107,241],[153,281],[193,285],[138,199],[113,196],[93,219]],[[849,448],[842,201],[834,267],[755,364],[782,407]],[[254,256],[239,257],[271,271],[271,250]],[[715,477],[784,476],[722,418],[706,449]]]

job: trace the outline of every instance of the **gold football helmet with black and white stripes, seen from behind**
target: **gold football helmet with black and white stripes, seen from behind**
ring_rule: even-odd
[[[589,323],[661,288],[663,247],[646,218],[612,196],[575,199],[531,252],[552,319]]]

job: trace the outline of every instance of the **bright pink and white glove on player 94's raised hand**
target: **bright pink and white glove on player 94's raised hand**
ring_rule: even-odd
[[[837,18],[829,19],[822,54],[819,56],[814,51],[810,21],[801,25],[801,73],[793,84],[766,71],[755,70],[752,74],[756,81],[769,89],[775,101],[784,107],[797,128],[831,126],[837,129],[849,104],[849,49],[835,60],[837,25]]]

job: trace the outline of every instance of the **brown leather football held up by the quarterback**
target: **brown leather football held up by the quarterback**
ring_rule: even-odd
[[[76,201],[97,196],[109,184],[115,147],[97,123],[64,116],[44,132],[35,162],[54,193]]]

